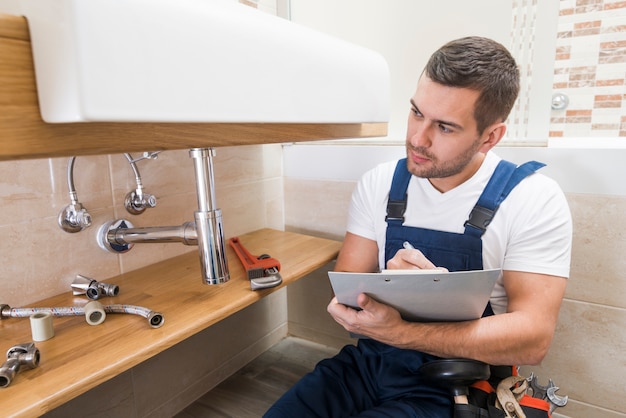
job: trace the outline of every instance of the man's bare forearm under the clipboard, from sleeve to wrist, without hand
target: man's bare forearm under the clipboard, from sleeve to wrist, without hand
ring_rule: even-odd
[[[441,357],[496,365],[539,364],[552,342],[566,283],[563,277],[505,271],[506,313],[440,326],[406,323],[408,327],[400,325],[389,336],[401,348]]]

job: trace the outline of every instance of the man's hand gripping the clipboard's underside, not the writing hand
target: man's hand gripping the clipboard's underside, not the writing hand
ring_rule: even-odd
[[[403,322],[400,313],[364,293],[358,296],[357,304],[361,310],[342,305],[333,298],[327,311],[346,331],[390,343],[390,329]]]

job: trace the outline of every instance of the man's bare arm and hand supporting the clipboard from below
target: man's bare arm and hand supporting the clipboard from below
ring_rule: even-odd
[[[496,365],[538,364],[552,342],[566,282],[563,277],[505,271],[507,312],[474,321],[411,323],[364,294],[358,299],[362,310],[333,299],[328,312],[346,330],[399,348]]]

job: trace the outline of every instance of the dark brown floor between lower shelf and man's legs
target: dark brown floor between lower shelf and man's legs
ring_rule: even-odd
[[[176,418],[258,418],[315,364],[337,350],[288,337],[206,393]]]

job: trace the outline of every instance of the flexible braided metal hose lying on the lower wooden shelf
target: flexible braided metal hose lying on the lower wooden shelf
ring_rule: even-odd
[[[98,317],[98,309],[94,309],[98,305],[102,306],[98,301],[88,302],[84,307],[82,306],[69,306],[58,308],[11,308],[9,305],[0,304],[0,319],[4,318],[25,318],[33,315],[37,312],[50,312],[52,316],[81,316],[88,314],[89,318],[86,318],[87,322],[97,322],[100,320]],[[104,313],[126,313],[143,316],[148,320],[148,323],[152,328],[159,328],[163,325],[163,314],[155,311],[151,311],[148,308],[134,305],[104,305],[102,311],[99,312],[99,316],[105,316]],[[104,319],[102,319],[104,320]],[[97,324],[92,324],[97,325]]]

